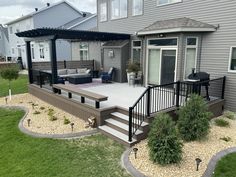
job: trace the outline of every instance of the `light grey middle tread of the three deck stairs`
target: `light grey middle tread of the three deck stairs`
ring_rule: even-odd
[[[115,129],[122,131],[122,133],[126,133],[126,134],[129,133],[129,126],[127,124],[125,124],[125,123],[117,121],[117,120],[115,120],[113,118],[106,119],[105,122],[108,124],[108,126],[112,125],[112,128],[116,127]],[[143,133],[142,130],[137,130],[135,135],[137,136],[137,135],[142,134],[142,133]]]

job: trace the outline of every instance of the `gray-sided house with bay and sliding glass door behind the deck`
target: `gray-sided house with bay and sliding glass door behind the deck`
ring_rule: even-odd
[[[133,35],[130,56],[145,84],[185,80],[192,68],[226,76],[236,111],[236,1],[97,0],[98,30]]]

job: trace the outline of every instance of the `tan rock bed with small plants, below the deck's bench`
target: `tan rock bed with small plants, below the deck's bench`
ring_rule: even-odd
[[[92,128],[86,128],[86,122],[79,117],[73,116],[63,110],[60,110],[30,94],[20,94],[12,97],[12,100],[0,98],[0,106],[20,106],[26,107],[29,110],[28,115],[23,120],[23,126],[27,130],[39,134],[70,134],[79,133],[84,131],[91,131]],[[49,112],[55,120],[50,120]],[[52,117],[52,116],[51,116]],[[30,125],[28,126],[28,120],[30,119]],[[64,120],[67,119],[67,124],[64,124]],[[69,120],[69,122],[68,122]],[[73,132],[70,123],[74,123]]]

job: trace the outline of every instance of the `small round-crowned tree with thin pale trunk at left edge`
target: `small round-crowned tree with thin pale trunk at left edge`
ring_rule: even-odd
[[[19,77],[19,69],[16,66],[9,66],[0,70],[0,75],[3,79],[8,80],[9,98],[11,100],[11,81]]]

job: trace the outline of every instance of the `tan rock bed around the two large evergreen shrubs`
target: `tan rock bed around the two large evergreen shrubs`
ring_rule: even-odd
[[[211,120],[210,133],[205,140],[184,143],[183,160],[178,165],[160,166],[153,164],[149,160],[147,140],[135,146],[138,148],[137,159],[131,152],[129,160],[137,170],[149,177],[201,177],[212,156],[224,149],[236,147],[236,120],[230,120],[224,116],[217,119],[227,120],[230,126],[219,127],[215,125],[215,119]],[[202,160],[199,171],[196,171],[196,158]]]

